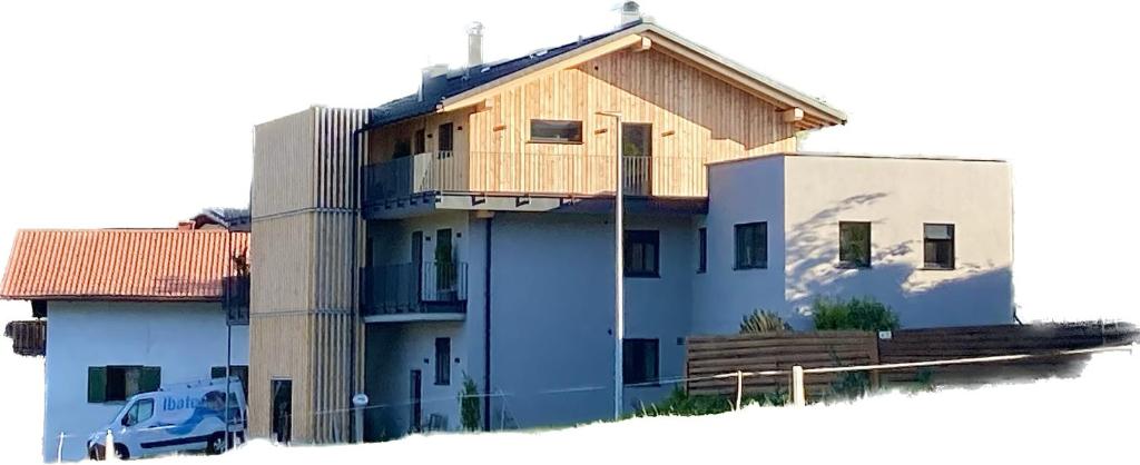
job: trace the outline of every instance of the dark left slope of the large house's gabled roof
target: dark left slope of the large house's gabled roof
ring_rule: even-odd
[[[445,98],[463,93],[467,90],[474,89],[479,85],[486,84],[496,79],[503,78],[505,75],[508,75],[518,71],[526,70],[530,66],[546,62],[548,59],[561,56],[569,51],[577,50],[581,47],[588,46],[598,40],[618,34],[632,27],[636,27],[641,24],[642,24],[641,21],[635,21],[617,30],[609,31],[603,34],[581,38],[577,41],[548,48],[542,51],[536,51],[527,56],[495,62],[495,63],[487,63],[466,70],[462,70],[461,73],[446,73],[435,78],[431,78],[424,82],[423,85],[424,96],[422,99],[420,98],[420,95],[417,92],[407,97],[401,97],[396,100],[389,101],[376,108],[372,108],[368,112],[369,119],[366,128],[367,129],[378,128],[385,124],[394,123],[400,120],[406,120],[409,117],[420,116],[434,112],[435,105],[439,104]]]

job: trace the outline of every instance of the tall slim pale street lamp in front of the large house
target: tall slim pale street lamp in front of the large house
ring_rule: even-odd
[[[622,389],[625,386],[622,381],[622,344],[626,337],[626,317],[625,317],[625,287],[622,283],[625,274],[624,264],[624,253],[622,247],[625,228],[622,227],[622,215],[621,215],[621,202],[622,202],[622,163],[621,163],[621,113],[620,112],[597,112],[602,116],[611,116],[617,121],[617,130],[614,137],[617,137],[617,170],[616,180],[613,188],[613,418],[621,418],[621,395]]]

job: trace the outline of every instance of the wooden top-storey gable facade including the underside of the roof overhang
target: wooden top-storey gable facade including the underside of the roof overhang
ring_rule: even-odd
[[[425,190],[612,194],[621,131],[602,113],[616,112],[648,141],[624,156],[625,183],[638,185],[633,194],[705,197],[707,163],[795,152],[798,131],[836,123],[805,117],[666,43],[651,32],[632,34],[446,99],[437,113],[370,131],[369,163],[418,157],[407,163]],[[536,120],[580,123],[580,140],[537,140]],[[440,154],[448,123],[451,150]],[[421,149],[427,155],[415,155]]]

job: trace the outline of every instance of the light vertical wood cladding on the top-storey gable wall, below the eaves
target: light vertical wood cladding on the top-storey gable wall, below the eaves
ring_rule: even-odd
[[[415,129],[432,133],[442,122],[466,120],[466,134],[456,134],[455,150],[466,155],[469,173],[458,179],[465,186],[458,190],[612,191],[621,131],[613,117],[597,113],[620,112],[627,123],[652,124],[652,194],[703,197],[706,163],[797,148],[796,125],[784,122],[780,108],[653,49],[624,49],[524,79],[481,105],[370,131],[369,161],[390,160],[396,141],[408,140]],[[532,141],[530,120],[581,121],[583,141]]]

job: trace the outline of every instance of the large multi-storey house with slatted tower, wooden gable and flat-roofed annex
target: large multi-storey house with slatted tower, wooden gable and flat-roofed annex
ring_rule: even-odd
[[[1013,318],[1008,164],[800,153],[847,116],[632,16],[491,63],[475,27],[408,97],[255,128],[253,434],[347,440],[359,392],[369,440],[457,430],[466,378],[484,430],[606,418],[616,366],[621,407],[652,402],[685,337],[807,328],[820,295]]]

